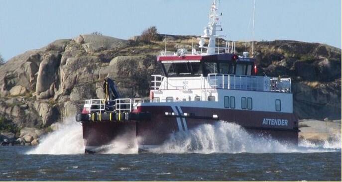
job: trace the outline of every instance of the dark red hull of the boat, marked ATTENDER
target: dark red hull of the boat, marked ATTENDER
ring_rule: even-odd
[[[83,122],[86,149],[106,145],[123,134],[132,140],[138,137],[139,146],[161,145],[174,132],[186,131],[218,120],[236,123],[256,136],[271,136],[279,141],[298,144],[298,121],[292,113],[177,106],[140,106],[138,110],[150,112],[151,119]],[[165,112],[174,112],[175,115],[168,116]],[[195,114],[196,117],[181,117],[183,113]],[[218,118],[213,118],[213,114]]]

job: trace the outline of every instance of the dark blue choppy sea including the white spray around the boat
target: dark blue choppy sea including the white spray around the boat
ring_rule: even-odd
[[[38,146],[0,147],[0,181],[341,181],[341,136],[294,147],[217,122],[148,152],[124,138],[105,147],[84,154],[82,126],[69,120]]]

